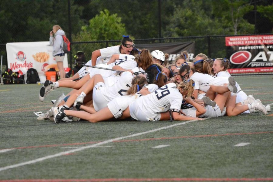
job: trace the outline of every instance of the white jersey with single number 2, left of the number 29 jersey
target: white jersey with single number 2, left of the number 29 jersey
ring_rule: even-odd
[[[131,72],[123,72],[119,80],[111,87],[102,87],[100,92],[103,97],[110,102],[118,96],[124,96],[127,94],[127,90],[132,86],[133,75]]]

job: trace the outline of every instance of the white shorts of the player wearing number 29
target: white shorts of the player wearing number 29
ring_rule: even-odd
[[[140,110],[136,102],[129,105],[129,110],[131,117],[138,121],[159,121],[161,117],[160,113],[155,113],[155,117],[149,118],[142,112],[142,110]]]

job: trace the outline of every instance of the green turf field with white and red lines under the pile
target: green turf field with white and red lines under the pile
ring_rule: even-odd
[[[235,77],[273,103],[273,76]],[[200,121],[38,121],[61,92],[0,85],[0,182],[273,181],[273,112]],[[271,105],[273,110],[273,105]],[[16,180],[15,180],[16,179]]]

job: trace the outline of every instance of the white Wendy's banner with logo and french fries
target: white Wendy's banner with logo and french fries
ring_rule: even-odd
[[[21,70],[23,74],[26,74],[29,68],[34,68],[41,82],[45,82],[45,72],[49,68],[56,68],[56,61],[52,56],[53,46],[49,45],[49,41],[7,43],[6,49],[8,68],[13,72]],[[68,67],[66,54],[63,66]]]

